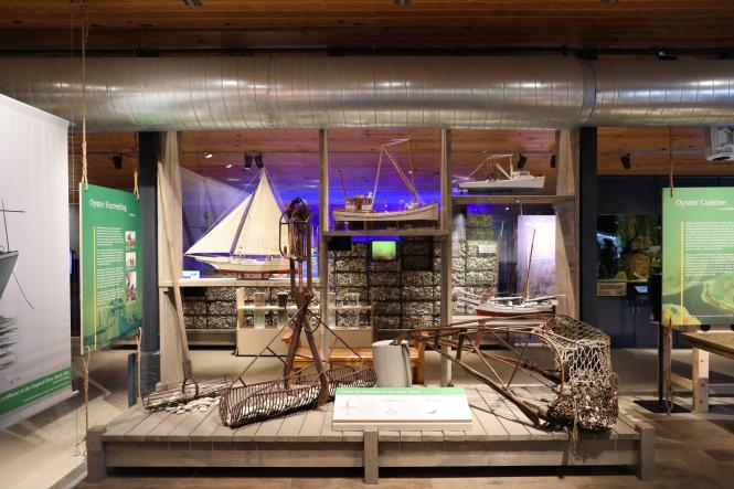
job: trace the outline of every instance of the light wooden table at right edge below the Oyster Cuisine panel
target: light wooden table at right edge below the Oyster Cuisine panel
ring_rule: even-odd
[[[691,379],[677,375],[676,383],[688,386],[693,395],[693,411],[709,411],[709,353],[734,360],[734,331],[684,332],[683,340],[692,347]]]

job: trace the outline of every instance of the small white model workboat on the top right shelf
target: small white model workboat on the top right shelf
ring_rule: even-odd
[[[509,158],[510,172],[504,171],[502,166],[496,160]],[[494,178],[492,173],[492,163],[504,178]],[[515,170],[512,167],[512,155],[489,155],[477,167],[475,171],[467,177],[470,179],[480,168],[487,166],[487,180],[467,180],[459,183],[459,190],[481,193],[541,193],[545,185],[545,177],[533,177],[529,171]]]

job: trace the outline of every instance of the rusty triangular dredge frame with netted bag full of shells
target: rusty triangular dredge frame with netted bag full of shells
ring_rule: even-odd
[[[543,422],[589,430],[610,428],[618,414],[617,375],[611,370],[609,337],[591,325],[567,316],[534,315],[509,319],[524,320],[511,325],[508,318],[487,318],[455,322],[449,326],[404,331],[393,344],[403,340],[419,342],[459,365],[475,379],[492,387],[513,403],[535,425]],[[513,355],[480,350],[482,337],[492,337]],[[508,339],[502,338],[507,336]],[[512,344],[509,338],[521,339]],[[554,357],[552,368],[541,368],[529,360],[528,347],[533,339],[549,348]],[[465,361],[467,353],[476,354],[482,368],[475,369]],[[491,362],[510,365],[509,379],[503,379]],[[522,398],[512,391],[518,371],[550,387],[555,398],[547,403]]]

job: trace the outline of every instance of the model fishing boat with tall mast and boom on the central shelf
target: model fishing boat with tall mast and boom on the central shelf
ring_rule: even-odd
[[[403,171],[402,167],[397,163],[392,148],[400,145],[407,145],[408,161],[411,164],[408,178]],[[387,159],[397,174],[400,176],[403,184],[411,192],[411,203],[407,209],[402,211],[385,211],[376,212],[374,210],[374,202],[377,195],[377,185],[380,183],[380,171],[382,169],[383,159]],[[341,172],[340,172],[341,176]],[[374,179],[374,190],[365,195],[347,196],[347,188],[342,178],[342,188],[344,189],[344,208],[334,209],[333,219],[338,222],[396,222],[396,221],[438,221],[438,204],[426,204],[418,195],[415,188],[415,169],[413,168],[413,150],[409,138],[394,139],[384,142],[380,146],[380,158],[377,159],[377,174]]]

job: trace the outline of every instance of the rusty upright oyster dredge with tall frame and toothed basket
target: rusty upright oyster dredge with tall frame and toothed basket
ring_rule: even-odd
[[[281,248],[281,255],[290,261],[290,296],[298,310],[290,320],[276,331],[270,341],[260,350],[255,359],[240,373],[237,380],[223,393],[220,401],[220,418],[230,427],[240,427],[247,423],[281,416],[295,411],[311,408],[326,404],[333,398],[338,386],[371,387],[376,383],[376,374],[371,366],[347,342],[331,330],[321,317],[310,311],[313,299],[311,268],[311,214],[301,199],[295,199],[280,216],[279,242],[283,244],[283,231],[286,228],[288,244]],[[304,269],[306,263],[306,269]],[[304,283],[306,275],[306,283]],[[333,334],[352,353],[360,359],[360,368],[329,364],[322,359],[313,333],[323,326],[323,331]],[[285,360],[277,355],[284,364],[283,374],[273,381],[247,384],[245,373],[266,352],[273,350],[270,344],[280,338],[286,328],[292,333]],[[301,333],[306,341],[313,363],[299,372],[294,372],[294,361]]]

